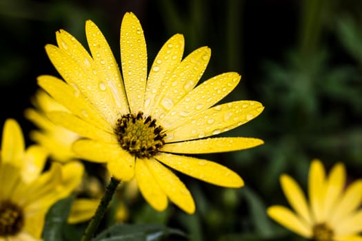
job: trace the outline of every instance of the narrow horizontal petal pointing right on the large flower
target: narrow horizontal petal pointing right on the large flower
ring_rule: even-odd
[[[257,147],[263,143],[263,140],[246,137],[206,138],[180,143],[166,143],[162,147],[162,151],[183,154],[204,154],[248,149]]]

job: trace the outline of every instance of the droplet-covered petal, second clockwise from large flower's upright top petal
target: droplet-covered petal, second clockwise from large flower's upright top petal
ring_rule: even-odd
[[[185,57],[172,71],[171,77],[163,85],[161,96],[152,112],[156,119],[162,119],[183,96],[199,82],[210,60],[211,50],[201,47]]]

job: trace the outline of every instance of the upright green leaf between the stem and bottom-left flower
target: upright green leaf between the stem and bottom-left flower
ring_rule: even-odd
[[[64,198],[56,202],[46,215],[44,225],[44,241],[61,241],[63,227],[65,227],[74,196]]]

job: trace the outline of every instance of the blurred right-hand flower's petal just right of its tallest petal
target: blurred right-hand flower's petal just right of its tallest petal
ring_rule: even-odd
[[[341,192],[345,188],[345,167],[338,163],[332,167],[327,180],[327,189],[325,190],[324,215],[330,217],[335,211],[336,201],[340,198]],[[337,204],[338,205],[338,204]],[[328,218],[329,219],[329,218]]]

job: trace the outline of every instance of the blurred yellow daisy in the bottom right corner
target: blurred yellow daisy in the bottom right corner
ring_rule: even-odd
[[[308,204],[301,187],[293,178],[283,174],[280,178],[283,192],[294,209],[275,205],[268,215],[284,227],[316,241],[362,240],[362,179],[345,187],[345,167],[337,163],[329,176],[320,160],[310,165]]]

